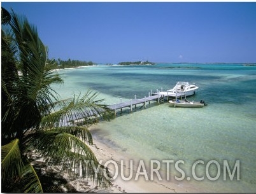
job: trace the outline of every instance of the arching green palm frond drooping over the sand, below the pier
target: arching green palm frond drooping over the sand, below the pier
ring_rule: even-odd
[[[83,176],[101,186],[111,184],[111,174],[100,165],[92,150],[75,135],[56,130],[39,131],[26,141],[45,158],[48,167],[57,165],[62,172]]]

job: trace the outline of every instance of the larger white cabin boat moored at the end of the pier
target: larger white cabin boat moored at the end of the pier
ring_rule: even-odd
[[[164,96],[168,96],[168,97],[187,97],[190,95],[195,95],[197,92],[197,89],[199,87],[197,87],[194,84],[190,84],[188,82],[185,81],[178,81],[176,83],[176,85],[173,87],[173,89],[167,90],[166,92],[158,92],[152,95],[164,95]]]

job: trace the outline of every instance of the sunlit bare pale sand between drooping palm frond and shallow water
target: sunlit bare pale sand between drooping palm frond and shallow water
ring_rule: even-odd
[[[97,160],[103,160],[103,164],[107,161],[114,161],[118,165],[118,170],[120,171],[120,161],[124,160],[124,175],[125,177],[129,177],[130,172],[130,164],[129,160],[134,160],[131,156],[127,155],[125,151],[122,149],[113,149],[110,148],[108,145],[104,144],[104,142],[97,138],[97,135],[93,132],[93,127],[90,127],[92,131],[92,136],[94,139],[94,144],[90,146],[92,151],[97,157]],[[135,162],[134,162],[135,163]],[[136,170],[138,169],[138,163],[133,164],[133,175],[136,176]],[[112,173],[115,173],[115,167],[110,163],[108,167],[112,170]],[[148,171],[147,171],[148,172]],[[153,179],[153,181],[145,180],[145,176],[138,176],[138,181],[135,181],[134,176],[129,181],[124,181],[120,176],[120,172],[118,172],[118,176],[113,182],[113,186],[108,188],[108,192],[120,193],[120,192],[128,192],[128,193],[151,193],[151,192],[158,192],[158,193],[185,193],[185,192],[202,192],[200,188],[194,188],[190,185],[185,185],[184,183],[179,183],[178,181],[174,182],[171,181],[159,181],[158,179]],[[148,176],[149,177],[149,176]]]

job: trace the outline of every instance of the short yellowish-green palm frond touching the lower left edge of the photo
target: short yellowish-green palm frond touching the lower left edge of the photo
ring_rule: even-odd
[[[2,180],[21,176],[24,163],[22,162],[18,139],[1,146],[1,159]]]

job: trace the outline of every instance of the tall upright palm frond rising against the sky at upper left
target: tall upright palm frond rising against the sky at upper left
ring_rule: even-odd
[[[41,90],[44,94],[45,89],[49,89],[52,83],[60,83],[62,79],[58,74],[53,74],[49,69],[46,69],[46,47],[39,39],[36,27],[29,24],[25,17],[21,17],[12,13],[11,28],[15,38],[17,39],[17,48],[20,50],[19,59],[21,60],[20,71],[24,83],[22,87],[27,91],[27,97],[31,100],[36,100],[38,93]],[[51,92],[44,95],[47,100],[50,100]]]

